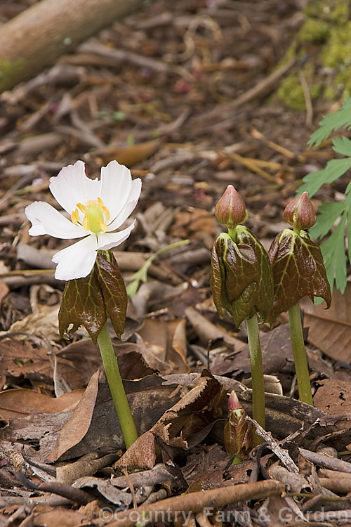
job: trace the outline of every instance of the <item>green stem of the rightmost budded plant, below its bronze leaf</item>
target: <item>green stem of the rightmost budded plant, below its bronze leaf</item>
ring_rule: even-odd
[[[298,396],[300,401],[313,406],[310,374],[308,372],[305,343],[303,341],[303,326],[301,324],[300,306],[298,304],[295,304],[295,306],[289,309],[289,325],[296,379],[298,381]]]

